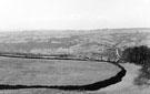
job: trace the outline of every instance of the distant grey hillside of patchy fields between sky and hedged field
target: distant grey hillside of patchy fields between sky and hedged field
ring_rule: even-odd
[[[112,58],[114,49],[150,45],[149,39],[150,28],[0,32],[0,52]]]

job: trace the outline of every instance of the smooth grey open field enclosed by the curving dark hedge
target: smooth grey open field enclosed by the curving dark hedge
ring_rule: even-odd
[[[107,62],[0,58],[0,84],[86,85],[114,76]]]

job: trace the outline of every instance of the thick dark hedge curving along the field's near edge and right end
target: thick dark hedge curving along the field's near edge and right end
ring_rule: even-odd
[[[97,90],[113,85],[113,84],[122,81],[122,77],[126,75],[127,71],[124,70],[124,67],[122,67],[121,65],[116,64],[113,62],[109,62],[109,63],[117,65],[118,67],[121,69],[121,71],[118,72],[117,75],[114,75],[110,79],[94,82],[91,84],[86,84],[86,85],[23,85],[23,84],[9,85],[9,84],[0,84],[0,90],[56,88],[56,90],[63,90],[63,91],[97,91]]]

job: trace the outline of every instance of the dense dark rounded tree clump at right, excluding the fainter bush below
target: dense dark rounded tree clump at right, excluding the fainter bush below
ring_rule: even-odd
[[[149,64],[150,49],[146,45],[128,48],[123,51],[122,59],[124,62]]]

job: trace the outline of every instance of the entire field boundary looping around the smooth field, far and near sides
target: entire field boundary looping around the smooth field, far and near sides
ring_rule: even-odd
[[[21,88],[56,88],[56,90],[64,90],[64,91],[97,91],[102,87],[107,87],[113,85],[122,80],[126,75],[126,70],[123,66],[118,64],[114,61],[104,61],[104,60],[84,60],[84,59],[77,59],[77,58],[60,58],[60,56],[40,56],[40,58],[32,58],[32,56],[24,56],[24,55],[13,55],[13,54],[0,54],[0,56],[4,58],[18,58],[18,59],[42,59],[42,60],[73,60],[73,61],[91,61],[91,62],[107,62],[117,65],[121,69],[120,72],[117,73],[116,76],[112,76],[108,80],[96,82],[92,84],[87,85],[9,85],[9,84],[0,84],[0,90],[21,90]]]

